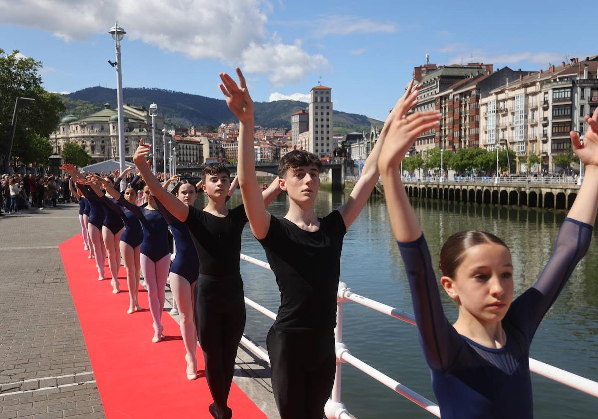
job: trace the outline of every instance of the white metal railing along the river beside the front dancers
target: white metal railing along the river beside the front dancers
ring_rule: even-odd
[[[254,257],[241,254],[240,259],[245,260],[245,262],[252,263],[253,265],[260,266],[260,268],[268,269],[269,271],[271,271],[270,265],[268,263],[255,259]],[[364,372],[370,377],[382,382],[382,384],[396,391],[396,393],[401,394],[401,396],[406,397],[408,400],[411,400],[411,402],[416,403],[416,405],[420,406],[421,408],[426,409],[431,414],[440,417],[440,408],[438,408],[437,404],[422,396],[421,394],[416,393],[415,391],[411,390],[410,388],[406,387],[405,385],[401,384],[395,379],[389,377],[383,372],[377,370],[376,368],[373,368],[373,366],[368,365],[367,363],[363,362],[362,360],[353,356],[350,353],[349,349],[347,348],[347,345],[343,343],[343,303],[345,301],[352,301],[358,303],[359,305],[363,305],[367,308],[371,308],[373,310],[381,312],[382,314],[386,314],[389,317],[397,318],[398,320],[404,321],[405,323],[413,324],[414,326],[416,325],[415,317],[413,314],[377,302],[376,300],[371,300],[359,294],[355,294],[351,291],[349,287],[347,287],[347,284],[342,282],[338,283],[337,327],[334,329],[337,367],[334,378],[334,385],[332,387],[332,394],[330,399],[328,399],[328,402],[326,403],[325,407],[325,414],[327,418],[352,418],[352,416],[349,414],[349,411],[347,411],[347,408],[344,405],[344,403],[341,402],[340,397],[342,371],[341,367],[343,363],[349,363],[350,365],[354,366],[355,368],[359,369],[360,371]],[[254,308],[257,311],[261,312],[261,314],[266,315],[266,317],[269,317],[272,320],[276,319],[276,314],[273,311],[270,311],[269,309],[259,305],[258,303],[248,299],[247,297],[245,297],[245,303],[251,308]],[[254,344],[254,342],[250,341],[245,336],[243,336],[241,342],[244,345],[246,345],[246,347],[248,347],[251,351],[253,351],[258,357],[270,363],[270,358],[268,357],[266,351]],[[533,358],[529,359],[529,369],[530,371],[535,372],[536,374],[550,378],[554,381],[560,382],[561,384],[565,384],[568,387],[575,388],[576,390],[583,391],[584,393],[590,394],[591,396],[598,397],[598,382],[596,381],[592,381],[591,379],[581,377],[580,375],[573,374],[572,372],[565,371],[564,369],[557,368],[556,366],[535,360]]]

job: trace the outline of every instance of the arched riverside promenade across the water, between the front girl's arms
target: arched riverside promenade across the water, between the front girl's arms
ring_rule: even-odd
[[[403,177],[408,196],[514,205],[529,208],[570,209],[579,191],[573,177]]]

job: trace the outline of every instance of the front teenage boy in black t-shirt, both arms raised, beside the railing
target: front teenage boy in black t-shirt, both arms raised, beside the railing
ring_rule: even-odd
[[[303,150],[285,154],[278,175],[280,189],[289,196],[289,210],[284,218],[272,217],[255,176],[253,102],[238,68],[237,75],[240,88],[228,74],[220,74],[220,88],[240,122],[237,176],[249,226],[266,250],[280,290],[278,315],[266,341],[274,399],[282,419],[321,419],[334,383],[343,238],[379,178],[377,159],[388,126],[385,123],[347,202],[324,218],[314,211],[322,162]],[[397,105],[408,101],[408,108],[413,107],[418,88],[411,82]]]

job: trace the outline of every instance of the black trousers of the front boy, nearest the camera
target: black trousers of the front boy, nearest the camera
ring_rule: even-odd
[[[279,332],[270,327],[266,345],[280,418],[322,419],[334,384],[334,329]]]

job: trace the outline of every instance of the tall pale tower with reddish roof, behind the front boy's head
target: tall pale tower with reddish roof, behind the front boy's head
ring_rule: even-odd
[[[334,150],[332,122],[332,89],[326,86],[313,87],[312,101],[309,104],[307,151],[311,151],[318,157],[331,156]]]

